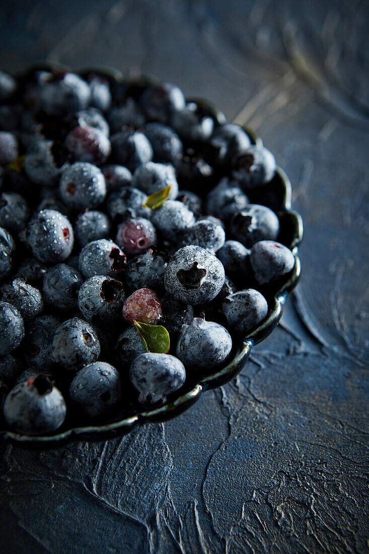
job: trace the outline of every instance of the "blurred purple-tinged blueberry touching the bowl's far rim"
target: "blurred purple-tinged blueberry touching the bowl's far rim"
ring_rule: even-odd
[[[181,89],[171,83],[153,84],[143,91],[141,106],[147,117],[168,123],[173,112],[183,110],[186,105]]]

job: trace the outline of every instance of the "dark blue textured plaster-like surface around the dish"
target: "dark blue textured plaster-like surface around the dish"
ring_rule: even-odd
[[[3,69],[173,81],[253,127],[304,218],[273,335],[188,412],[100,444],[0,448],[0,544],[24,553],[368,552],[368,4],[1,2]]]

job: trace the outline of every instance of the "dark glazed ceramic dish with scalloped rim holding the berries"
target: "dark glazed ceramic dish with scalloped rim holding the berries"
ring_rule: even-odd
[[[33,69],[33,68],[32,68]],[[49,69],[48,66],[38,66],[35,69]],[[60,69],[60,68],[58,68]],[[64,69],[64,68],[61,68]],[[85,69],[79,72],[86,76],[89,73],[98,73],[109,79],[111,85],[115,87],[116,93],[122,90],[122,95],[129,90],[131,95],[139,95],[140,92],[152,83],[154,80],[135,79],[125,80],[123,75],[109,68]],[[216,125],[222,125],[225,122],[224,114],[213,106],[210,102],[203,99],[196,100],[202,105],[204,111],[212,115]],[[254,143],[262,144],[252,130],[245,128]],[[244,337],[243,341],[238,341],[230,354],[232,360],[217,368],[212,373],[201,373],[197,377],[189,376],[183,387],[171,394],[167,398],[166,404],[160,407],[142,407],[137,401],[132,402],[132,394],[127,395],[125,410],[121,411],[110,423],[101,423],[100,425],[84,425],[73,427],[68,419],[63,427],[50,435],[27,436],[14,433],[11,430],[0,430],[0,437],[3,440],[11,442],[23,448],[57,448],[73,440],[106,440],[120,437],[130,433],[137,425],[152,422],[163,422],[172,419],[178,414],[191,407],[201,396],[203,392],[213,388],[221,387],[238,375],[243,369],[250,356],[253,346],[263,341],[273,331],[278,324],[284,302],[289,293],[295,288],[300,276],[300,260],[297,252],[299,244],[303,238],[303,222],[298,213],[291,209],[291,183],[285,172],[277,168],[273,180],[260,189],[255,189],[249,194],[252,203],[260,203],[273,209],[280,220],[279,241],[292,250],[295,255],[295,265],[293,270],[285,278],[275,281],[275,283],[265,286],[262,293],[268,300],[268,316],[261,325],[257,327],[250,335]],[[134,394],[134,393],[133,393]],[[130,398],[129,398],[130,397]]]

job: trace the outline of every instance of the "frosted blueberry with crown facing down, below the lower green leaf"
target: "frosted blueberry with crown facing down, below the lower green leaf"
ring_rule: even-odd
[[[165,402],[168,394],[177,391],[186,379],[183,363],[170,354],[146,352],[131,365],[130,379],[140,392],[139,402]]]

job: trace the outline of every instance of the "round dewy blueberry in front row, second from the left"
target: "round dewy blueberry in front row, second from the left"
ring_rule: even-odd
[[[70,384],[69,397],[80,412],[94,418],[117,406],[121,388],[115,367],[106,362],[94,362],[79,370]]]

